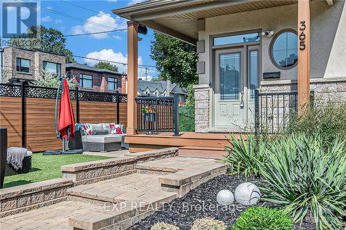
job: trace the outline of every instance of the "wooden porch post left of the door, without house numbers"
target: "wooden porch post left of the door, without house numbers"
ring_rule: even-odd
[[[138,81],[138,23],[127,21],[127,133],[136,134]]]

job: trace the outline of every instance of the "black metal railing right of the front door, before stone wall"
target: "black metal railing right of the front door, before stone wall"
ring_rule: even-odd
[[[310,99],[313,101],[313,91]],[[311,103],[313,104],[313,103]],[[298,93],[260,93],[255,90],[255,131],[282,133],[289,126],[289,119],[298,111]]]

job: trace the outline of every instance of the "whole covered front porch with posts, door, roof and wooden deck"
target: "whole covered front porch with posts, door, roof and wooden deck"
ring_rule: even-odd
[[[125,140],[130,144],[130,151],[179,146],[181,153],[186,155],[198,152],[199,157],[220,156],[227,144],[226,135],[229,132],[255,131],[255,126],[259,126],[256,124],[258,117],[266,122],[271,119],[270,128],[275,131],[285,123],[282,118],[285,109],[307,113],[311,97],[310,6],[313,4],[313,18],[316,18],[334,3],[332,0],[146,1],[113,10],[116,15],[130,20],[127,23],[128,135]],[[342,9],[343,6],[339,5],[338,8]],[[139,24],[197,46],[199,85],[194,87],[195,133],[177,134],[173,128],[171,133],[145,135],[138,127],[141,124],[138,122],[141,119],[138,109],[141,107],[136,102]],[[285,59],[286,66],[275,66],[275,58],[268,52],[273,46],[273,37],[284,32],[297,37],[293,43],[296,50],[292,56],[294,62]],[[230,41],[237,36],[240,36],[239,41]],[[223,67],[221,61],[224,59],[227,60]],[[234,73],[227,73],[228,64],[233,68],[229,72]],[[221,68],[239,81],[227,82],[228,79],[223,79],[219,72]],[[282,87],[284,90],[280,90],[280,86],[276,93],[266,94],[263,89],[268,88],[280,74],[280,80],[295,81],[296,86],[286,84]],[[226,84],[229,84],[228,89],[224,87]],[[275,108],[273,104],[276,104]],[[174,108],[172,113],[175,113]],[[233,120],[230,121],[229,117]],[[253,128],[248,128],[251,125]]]

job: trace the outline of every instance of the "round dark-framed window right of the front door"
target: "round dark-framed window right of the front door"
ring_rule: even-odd
[[[294,30],[282,30],[271,41],[271,61],[280,69],[293,68],[298,61],[298,37]]]

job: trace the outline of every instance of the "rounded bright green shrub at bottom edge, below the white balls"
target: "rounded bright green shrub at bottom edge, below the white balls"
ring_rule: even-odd
[[[251,207],[244,211],[232,230],[294,230],[293,220],[283,211],[267,207]]]

